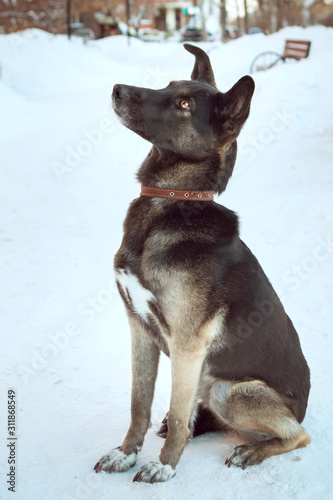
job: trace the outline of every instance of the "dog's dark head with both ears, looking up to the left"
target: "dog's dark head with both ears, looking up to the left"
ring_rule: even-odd
[[[117,84],[112,100],[122,123],[156,148],[198,158],[236,139],[249,115],[254,82],[244,76],[219,92],[208,55],[184,47],[196,58],[191,81],[161,90]]]

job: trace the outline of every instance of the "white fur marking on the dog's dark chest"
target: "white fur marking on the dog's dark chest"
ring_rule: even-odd
[[[135,312],[147,321],[147,314],[151,314],[149,302],[155,301],[151,291],[144,288],[138,278],[130,273],[128,269],[116,271],[116,280],[123,289],[125,296],[129,295]]]

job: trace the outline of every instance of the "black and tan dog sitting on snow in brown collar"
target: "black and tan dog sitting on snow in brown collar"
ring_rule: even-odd
[[[131,329],[131,424],[95,471],[136,463],[162,351],[171,359],[171,402],[159,459],[134,477],[147,483],[173,477],[188,440],[204,432],[244,436],[226,460],[243,469],[311,441],[300,425],[310,372],[298,335],[240,239],[238,217],[213,199],[232,175],[254,82],[244,76],[219,92],[208,55],[184,47],[195,56],[191,81],[162,90],[117,84],[112,94],[121,122],[152,149],[114,261]]]

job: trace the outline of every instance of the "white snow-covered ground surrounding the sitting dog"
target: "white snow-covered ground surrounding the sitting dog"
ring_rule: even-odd
[[[202,46],[226,91],[255,55],[281,52],[287,38],[311,40],[310,57],[254,75],[237,168],[220,202],[239,213],[242,238],[299,332],[312,374],[304,426],[313,441],[243,471],[224,466],[237,436],[205,435],[188,444],[175,478],[147,485],[132,478],[163,444],[156,430],[170,397],[166,358],[137,465],[92,472],[129,423],[130,335],[112,266],[149,150],[115,119],[110,94],[115,83],[162,88],[188,79],[194,58],[176,43],[83,45],[38,30],[0,36],[1,498],[333,498],[333,29]],[[9,389],[15,495],[6,483]]]

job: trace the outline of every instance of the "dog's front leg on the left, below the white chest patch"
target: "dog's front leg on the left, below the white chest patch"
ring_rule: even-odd
[[[151,406],[157,377],[159,348],[151,341],[139,321],[129,315],[132,338],[131,425],[123,444],[104,455],[96,472],[124,472],[136,463],[150,425]]]

